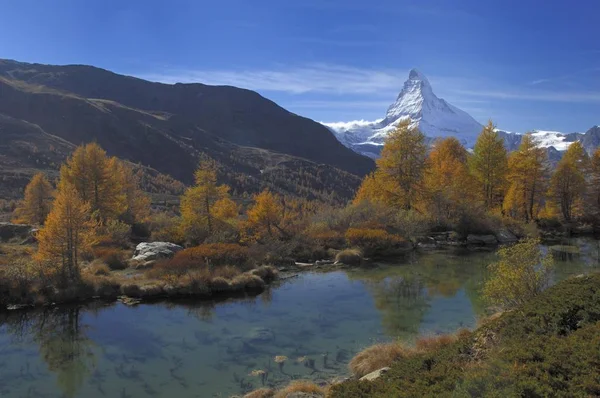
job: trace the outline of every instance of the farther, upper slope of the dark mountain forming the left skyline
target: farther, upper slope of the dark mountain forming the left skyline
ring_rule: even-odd
[[[169,134],[208,133],[242,146],[263,148],[324,163],[362,176],[373,162],[344,147],[324,126],[281,108],[258,93],[229,86],[161,84],[103,69],[0,61],[0,76],[86,99],[168,114]],[[179,126],[188,128],[180,129]],[[193,126],[193,128],[191,128]],[[190,128],[194,131],[190,133]]]

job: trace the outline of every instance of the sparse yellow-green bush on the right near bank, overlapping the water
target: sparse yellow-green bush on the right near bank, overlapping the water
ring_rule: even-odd
[[[500,260],[489,266],[492,277],[483,293],[492,303],[512,309],[541,293],[548,285],[553,260],[538,239],[527,239],[498,250]]]

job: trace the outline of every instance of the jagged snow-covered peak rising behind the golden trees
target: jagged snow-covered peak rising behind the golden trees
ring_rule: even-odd
[[[454,136],[467,147],[475,143],[483,127],[468,113],[438,98],[425,75],[416,69],[408,74],[383,119],[323,124],[347,147],[378,157],[387,134],[407,118],[429,138]]]

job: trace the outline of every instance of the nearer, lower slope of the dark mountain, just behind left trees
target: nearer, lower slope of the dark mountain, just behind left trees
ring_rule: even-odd
[[[157,179],[171,185],[158,171],[190,183],[202,154],[219,163],[220,180],[238,193],[268,187],[343,202],[360,183],[356,175],[327,164],[233,144],[177,115],[0,77],[0,197],[19,197],[37,170],[56,175],[73,148],[90,141],[143,165],[152,192],[160,192]]]

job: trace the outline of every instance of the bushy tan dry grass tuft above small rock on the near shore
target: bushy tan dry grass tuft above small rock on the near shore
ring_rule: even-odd
[[[399,343],[376,344],[356,354],[348,368],[357,378],[390,366],[409,355],[409,350]]]

